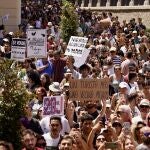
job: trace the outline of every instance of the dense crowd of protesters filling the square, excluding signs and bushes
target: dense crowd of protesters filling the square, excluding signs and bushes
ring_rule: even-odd
[[[142,18],[120,22],[111,13],[78,6],[76,13],[78,32],[88,37],[90,50],[79,68],[72,56],[65,56],[60,1],[24,0],[20,32],[1,30],[0,55],[8,59],[13,37],[25,37],[29,28],[48,34],[47,58],[26,58],[18,72],[35,94],[20,118],[23,150],[150,150],[150,37]],[[109,98],[82,105],[71,101],[70,80],[91,78],[109,80]],[[43,97],[60,95],[65,114],[43,116]],[[0,149],[9,150],[9,144],[1,141]]]

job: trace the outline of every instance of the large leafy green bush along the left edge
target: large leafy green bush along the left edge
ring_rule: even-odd
[[[21,149],[20,117],[28,99],[23,83],[18,79],[12,61],[0,58],[0,140],[11,142],[15,150]]]

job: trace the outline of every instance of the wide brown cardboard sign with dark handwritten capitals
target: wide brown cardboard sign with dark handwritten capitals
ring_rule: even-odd
[[[70,99],[80,102],[108,99],[108,79],[75,79],[70,81]]]

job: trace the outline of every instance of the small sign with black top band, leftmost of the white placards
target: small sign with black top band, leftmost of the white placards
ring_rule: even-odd
[[[11,59],[24,61],[26,52],[26,39],[13,38],[11,44]]]

